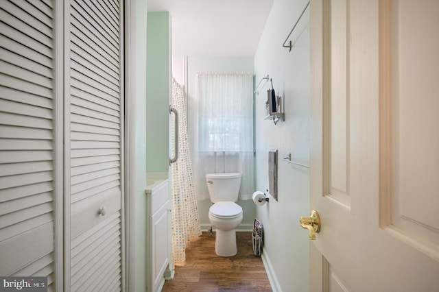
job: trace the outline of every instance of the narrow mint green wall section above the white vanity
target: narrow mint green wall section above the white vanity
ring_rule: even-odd
[[[147,13],[146,171],[169,169],[171,25],[168,12]]]

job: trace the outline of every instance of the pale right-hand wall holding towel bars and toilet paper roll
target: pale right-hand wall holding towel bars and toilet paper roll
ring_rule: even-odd
[[[278,291],[309,291],[309,239],[298,218],[309,215],[309,25],[289,52],[282,47],[306,0],[274,0],[254,56],[255,83],[270,75],[274,90],[285,99],[285,122],[265,121],[267,84],[256,97],[257,188],[268,188],[268,149],[278,149],[278,201],[257,207],[265,232],[263,260]],[[309,17],[302,19],[309,23]],[[300,23],[302,24],[302,23]],[[294,33],[295,35],[296,32]]]

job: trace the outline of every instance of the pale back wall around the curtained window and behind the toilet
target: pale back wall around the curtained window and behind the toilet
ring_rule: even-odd
[[[188,90],[188,134],[189,145],[191,147],[191,157],[193,157],[194,139],[197,135],[195,132],[195,74],[197,72],[254,72],[253,57],[189,57],[187,58],[187,90]],[[255,206],[252,200],[237,202],[242,207],[244,218],[238,230],[250,230],[253,226],[255,216]],[[198,210],[200,212],[200,221],[202,229],[210,228],[209,208],[212,203],[209,199],[198,201]]]

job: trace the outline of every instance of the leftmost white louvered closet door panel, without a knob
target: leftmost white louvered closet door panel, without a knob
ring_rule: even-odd
[[[55,14],[52,1],[0,1],[0,276],[47,276],[49,291],[62,277]]]

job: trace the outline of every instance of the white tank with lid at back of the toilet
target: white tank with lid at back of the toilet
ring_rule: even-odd
[[[211,202],[237,202],[241,173],[207,173],[206,184]]]

